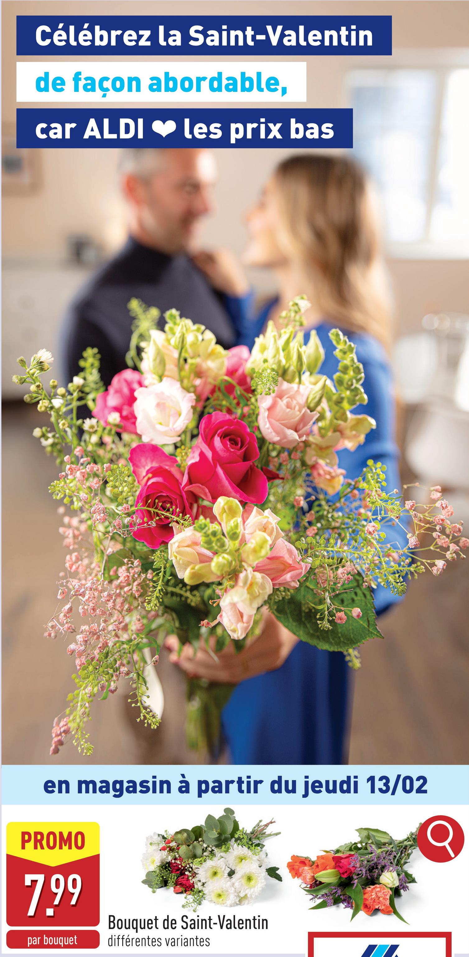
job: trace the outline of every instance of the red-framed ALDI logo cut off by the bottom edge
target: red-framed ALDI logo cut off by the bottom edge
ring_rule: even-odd
[[[450,931],[310,931],[308,957],[452,957]]]

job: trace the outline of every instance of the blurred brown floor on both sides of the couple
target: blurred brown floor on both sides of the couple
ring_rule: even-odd
[[[47,640],[65,549],[56,478],[32,432],[37,412],[7,406],[3,425],[3,763],[75,764],[73,745],[49,757],[50,731],[72,688],[66,643]],[[355,678],[350,762],[463,764],[468,761],[469,564],[414,582],[381,619],[385,641],[364,647]],[[89,763],[193,763],[184,744],[184,680],[162,656],[167,709],[156,732],[134,724],[125,696],[96,702]]]

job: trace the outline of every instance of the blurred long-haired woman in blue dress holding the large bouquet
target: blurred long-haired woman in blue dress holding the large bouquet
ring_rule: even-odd
[[[288,302],[305,294],[311,307],[306,329],[324,347],[321,367],[337,371],[328,333],[339,326],[356,345],[365,370],[366,412],[377,423],[364,445],[339,454],[347,477],[358,476],[368,458],[387,466],[388,489],[399,485],[394,444],[394,399],[386,347],[389,307],[372,197],[364,172],[346,158],[300,155],[285,160],[247,215],[246,264],[275,270],[279,296],[257,318],[238,308],[238,343],[254,345],[268,320],[278,322]],[[246,283],[226,254],[198,256],[213,285],[246,302]],[[233,308],[235,314],[235,308]],[[304,341],[307,342],[307,332]],[[392,542],[405,533],[393,528]],[[378,586],[378,614],[394,595]],[[263,633],[235,655],[233,644],[214,661],[205,650],[181,657],[169,639],[170,659],[190,675],[234,683],[222,723],[234,764],[342,764],[347,759],[351,704],[350,669],[340,653],[299,641],[272,616]]]

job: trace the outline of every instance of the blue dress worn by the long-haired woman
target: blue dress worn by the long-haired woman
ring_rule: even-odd
[[[272,302],[257,319],[248,310],[229,303],[238,329],[238,345],[254,345]],[[338,361],[328,333],[334,326],[321,323],[316,332],[324,347],[321,372],[333,379]],[[398,451],[394,440],[394,398],[391,369],[385,351],[371,336],[344,330],[356,345],[365,370],[368,406],[360,407],[376,420],[376,429],[351,453],[339,453],[339,465],[348,478],[360,475],[368,458],[387,466],[387,488],[399,487]],[[307,335],[305,335],[305,342]],[[407,543],[405,532],[394,526],[390,540]],[[378,614],[398,599],[378,586],[374,591]],[[232,761],[259,765],[339,765],[347,761],[351,712],[351,669],[341,652],[325,652],[300,641],[277,671],[266,672],[236,685],[222,712],[222,726]]]

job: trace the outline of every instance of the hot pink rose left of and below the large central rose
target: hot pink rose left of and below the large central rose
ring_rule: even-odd
[[[135,445],[128,460],[141,486],[135,501],[132,535],[149,548],[158,548],[172,539],[174,516],[192,515],[193,496],[181,488],[183,475],[177,458],[167,456],[158,445]],[[166,514],[158,514],[158,510]]]

